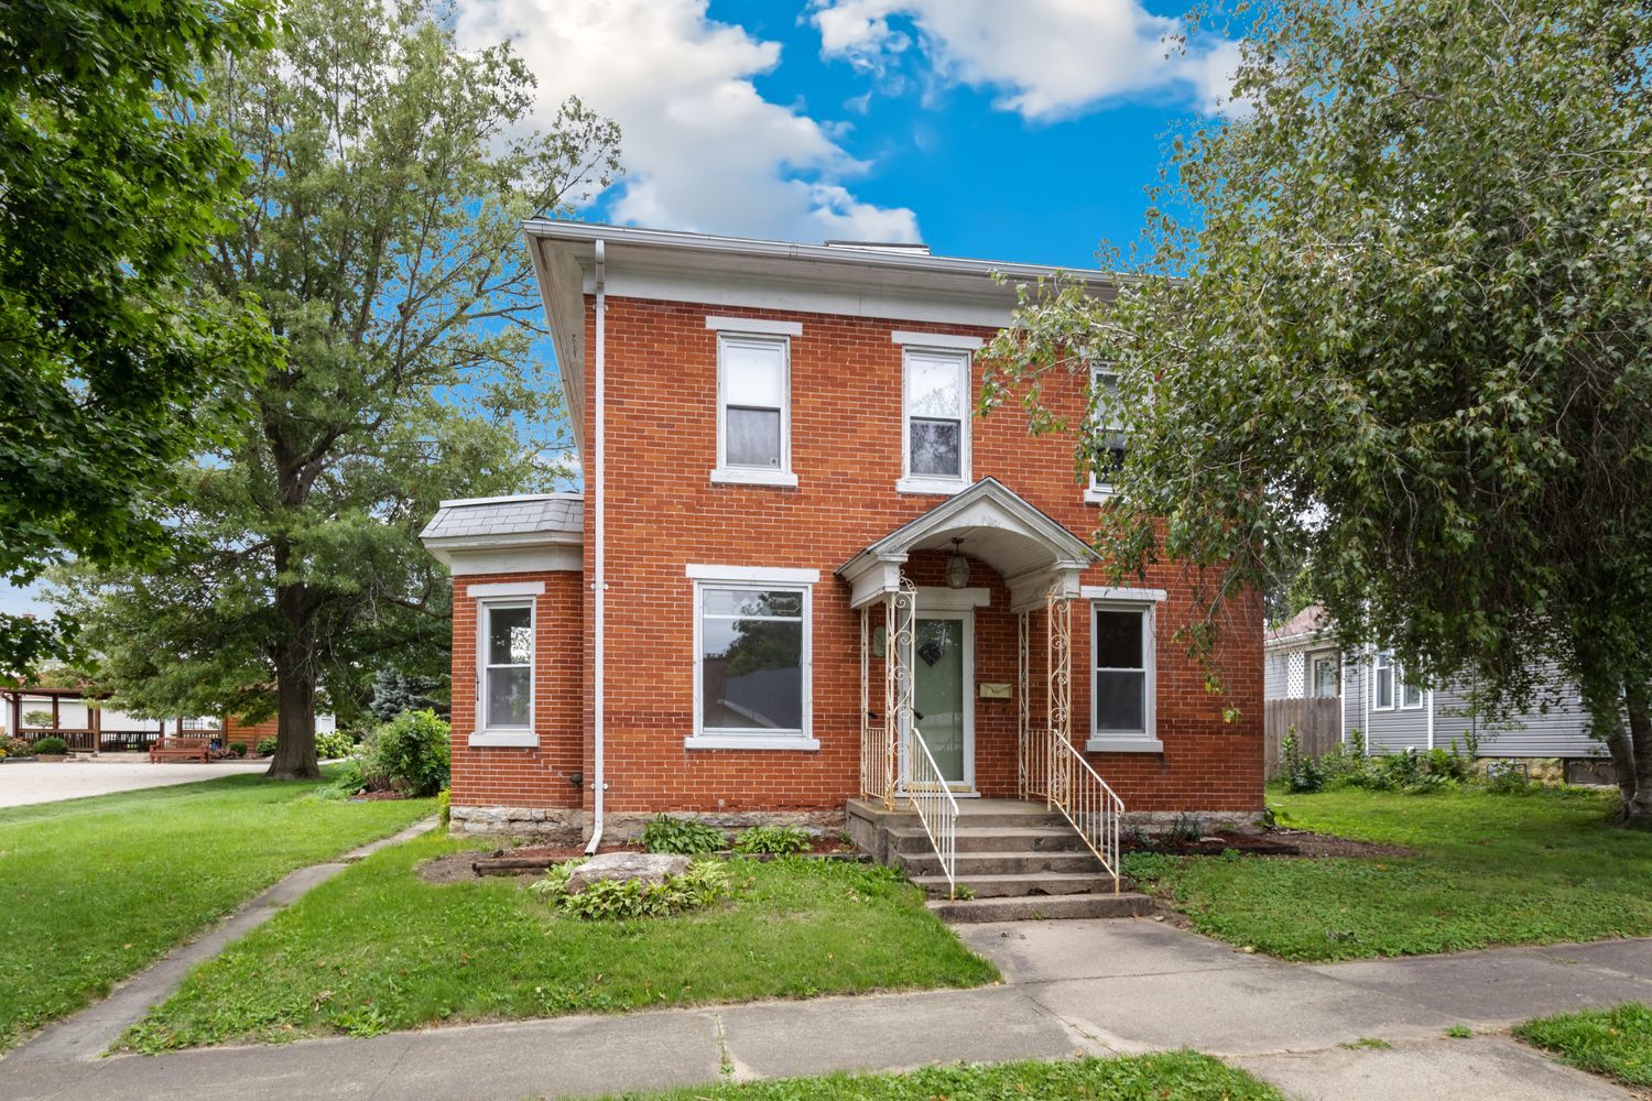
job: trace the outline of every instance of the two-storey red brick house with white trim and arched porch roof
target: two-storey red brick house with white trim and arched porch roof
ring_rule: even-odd
[[[1090,776],[1127,822],[1262,810],[1260,607],[1209,695],[1178,568],[1110,588],[1087,546],[1107,472],[973,411],[1014,304],[991,272],[1051,269],[527,233],[586,489],[446,502],[425,532],[454,583],[454,829],[828,824],[907,792],[945,817]],[[1051,398],[1080,419],[1089,385]]]

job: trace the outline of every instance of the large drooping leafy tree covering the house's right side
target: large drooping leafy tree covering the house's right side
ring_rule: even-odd
[[[1346,642],[1488,710],[1558,669],[1652,820],[1652,7],[1277,0],[1247,33],[1135,277],[1029,287],[986,406],[1113,361],[1122,573],[1188,561],[1214,607],[1307,560]]]

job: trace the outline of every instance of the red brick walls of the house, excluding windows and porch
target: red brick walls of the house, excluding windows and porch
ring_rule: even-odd
[[[590,299],[586,300],[590,307]],[[796,489],[710,485],[717,432],[717,335],[707,314],[796,320],[791,338],[791,464]],[[890,332],[932,330],[991,337],[991,330],[876,319],[738,310],[694,304],[608,299],[608,806],[740,810],[838,806],[857,787],[859,614],[849,588],[831,574],[867,543],[935,507],[943,497],[895,494],[900,477],[900,345]],[[595,322],[586,310],[586,348]],[[590,370],[590,363],[586,370]],[[975,366],[980,388],[981,368]],[[1057,383],[1054,398],[1082,416],[1082,381]],[[595,411],[595,401],[586,401]],[[586,419],[585,437],[595,439]],[[999,479],[1080,536],[1095,527],[1097,505],[1082,500],[1070,437],[1031,439],[1013,409],[973,424],[971,480]],[[590,503],[590,502],[588,502]],[[1102,505],[1105,507],[1105,505]],[[586,508],[586,545],[593,540]],[[965,546],[968,551],[968,545]],[[816,568],[813,607],[813,703],[816,753],[686,749],[692,733],[692,586],[686,563]],[[593,556],[585,558],[586,583]],[[940,556],[914,556],[919,584],[940,583]],[[553,574],[547,574],[553,576]],[[464,579],[459,579],[461,584]],[[1085,584],[1105,584],[1100,566]],[[996,573],[975,563],[971,584],[988,586],[993,604],[976,616],[976,682],[1016,680],[1014,617]],[[1158,736],[1163,754],[1092,754],[1092,764],[1132,810],[1259,810],[1262,806],[1262,622],[1251,602],[1232,609],[1218,655],[1227,697],[1203,687],[1201,670],[1173,634],[1194,612],[1175,565],[1153,569],[1145,584],[1170,593],[1158,611]],[[548,594],[547,594],[547,599]],[[572,599],[572,596],[570,596]],[[590,591],[583,594],[590,617]],[[471,614],[454,601],[454,720],[461,685],[474,670]],[[558,604],[558,607],[562,607]],[[1089,606],[1072,616],[1074,736],[1089,730]],[[573,606],[567,607],[573,616]],[[550,624],[542,617],[542,624]],[[562,627],[555,627],[562,632]],[[1042,715],[1042,616],[1034,616],[1034,720]],[[560,636],[558,636],[560,637]],[[542,649],[560,649],[545,632]],[[545,657],[542,655],[542,660]],[[591,723],[593,670],[585,660],[583,721]],[[876,690],[874,690],[876,692]],[[876,698],[876,697],[874,697]],[[565,708],[567,702],[540,706]],[[876,706],[876,705],[874,705]],[[1016,703],[973,700],[976,777],[988,796],[1014,789]],[[1222,708],[1241,718],[1222,720]],[[558,744],[562,744],[558,735]],[[570,743],[572,744],[572,743]],[[482,754],[476,758],[476,754]],[[456,754],[454,802],[520,804],[562,799],[547,784],[545,748]],[[464,756],[464,764],[458,763]],[[484,764],[486,761],[486,764]],[[591,774],[591,746],[583,768]],[[463,787],[461,787],[463,784]],[[463,796],[463,797],[461,797]],[[560,804],[555,804],[560,806]],[[586,806],[590,794],[586,792]]]

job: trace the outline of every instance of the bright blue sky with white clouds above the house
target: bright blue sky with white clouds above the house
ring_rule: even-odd
[[[537,116],[620,122],[596,221],[1094,266],[1135,239],[1178,120],[1218,111],[1236,46],[1166,58],[1184,2],[458,0],[464,46],[510,38]],[[0,583],[0,609],[41,611]]]

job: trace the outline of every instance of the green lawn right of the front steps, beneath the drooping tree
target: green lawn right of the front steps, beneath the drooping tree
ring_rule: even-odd
[[[1305,860],[1132,853],[1199,933],[1284,959],[1363,959],[1652,934],[1652,834],[1607,827],[1589,791],[1270,792],[1285,825],[1409,845]]]

